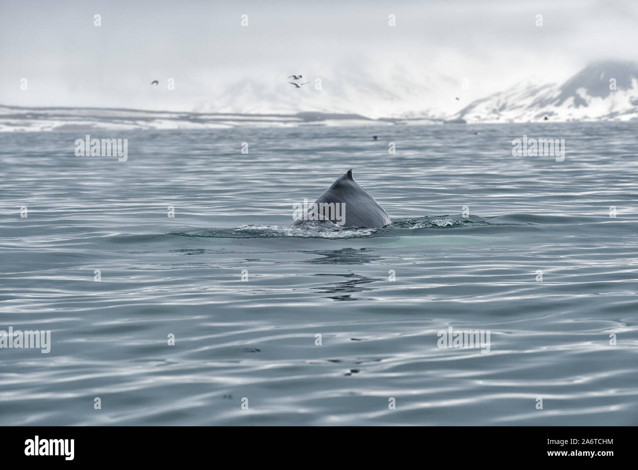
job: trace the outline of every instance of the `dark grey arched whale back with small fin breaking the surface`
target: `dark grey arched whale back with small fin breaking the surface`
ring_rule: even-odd
[[[294,206],[294,205],[293,205]],[[387,212],[352,177],[352,168],[320,195],[290,227],[305,220],[330,220],[342,227],[380,229],[392,224]]]

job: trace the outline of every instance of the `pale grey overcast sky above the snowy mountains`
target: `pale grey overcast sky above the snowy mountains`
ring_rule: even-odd
[[[0,104],[193,110],[243,79],[286,86],[298,71],[382,87],[392,70],[468,78],[479,97],[635,61],[637,47],[636,1],[1,0]],[[176,89],[158,99],[149,84],[168,78]]]

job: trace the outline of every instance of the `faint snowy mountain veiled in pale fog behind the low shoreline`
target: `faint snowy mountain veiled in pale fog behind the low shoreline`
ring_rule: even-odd
[[[309,84],[295,89],[280,77],[242,79],[198,103],[198,112],[296,113],[341,112],[378,117],[441,118],[461,108],[456,96],[461,80],[433,71],[410,73],[401,66],[389,70],[361,70],[357,74],[304,73]]]

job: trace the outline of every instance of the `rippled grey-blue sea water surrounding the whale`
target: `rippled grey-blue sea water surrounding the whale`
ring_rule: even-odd
[[[0,330],[51,340],[0,349],[0,424],[637,425],[636,131],[2,133]],[[286,228],[349,168],[390,227]]]

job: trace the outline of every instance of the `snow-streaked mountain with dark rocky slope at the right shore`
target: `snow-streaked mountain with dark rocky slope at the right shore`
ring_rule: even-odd
[[[519,83],[454,115],[468,123],[638,119],[638,64],[591,63],[558,84]]]

